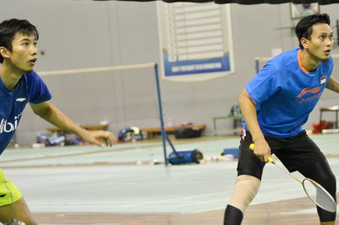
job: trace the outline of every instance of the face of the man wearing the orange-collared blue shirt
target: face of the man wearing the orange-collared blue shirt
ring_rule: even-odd
[[[328,24],[319,23],[312,26],[308,51],[315,60],[328,60],[333,47],[333,31]]]

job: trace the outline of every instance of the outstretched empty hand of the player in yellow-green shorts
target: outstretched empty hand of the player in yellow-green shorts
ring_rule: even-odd
[[[81,137],[94,145],[98,145],[100,147],[112,146],[117,143],[117,139],[115,135],[110,131],[89,131],[85,130]]]

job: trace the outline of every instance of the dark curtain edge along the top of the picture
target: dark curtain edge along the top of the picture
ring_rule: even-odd
[[[96,0],[102,1],[102,0]],[[153,1],[153,0],[125,0],[125,1]],[[339,0],[163,0],[165,2],[211,2],[214,1],[217,4],[225,4],[225,3],[237,3],[243,5],[253,5],[253,4],[261,4],[261,3],[268,3],[268,4],[281,4],[286,2],[293,2],[294,4],[307,4],[307,3],[316,3],[318,2],[320,5],[327,5],[332,3],[339,3]]]

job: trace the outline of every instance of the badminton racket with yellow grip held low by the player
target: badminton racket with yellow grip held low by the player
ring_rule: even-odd
[[[254,150],[253,143],[249,145],[249,149]],[[309,178],[305,178],[304,180],[298,179],[281,165],[278,165],[271,156],[268,156],[268,162],[276,165],[282,171],[290,175],[294,180],[303,185],[306,195],[308,195],[309,199],[311,199],[317,206],[329,212],[335,212],[337,210],[337,203],[332,195],[330,195],[318,182]]]

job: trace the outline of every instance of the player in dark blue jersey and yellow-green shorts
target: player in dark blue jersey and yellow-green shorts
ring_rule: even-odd
[[[10,19],[0,23],[0,154],[14,135],[27,103],[44,120],[92,144],[115,144],[116,138],[111,132],[85,130],[48,102],[51,94],[33,71],[38,39],[38,31],[27,20]],[[0,221],[8,225],[37,225],[21,193],[1,169]]]

